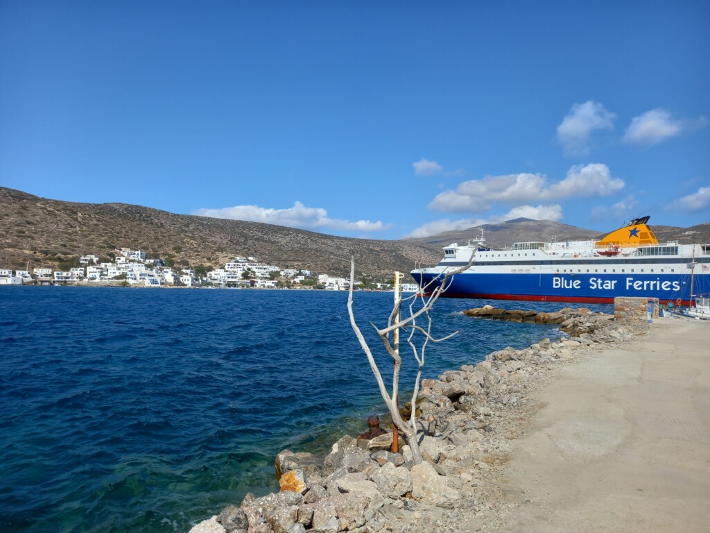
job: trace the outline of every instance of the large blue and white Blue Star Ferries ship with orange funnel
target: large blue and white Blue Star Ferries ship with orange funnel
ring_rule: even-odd
[[[710,244],[660,244],[650,217],[599,241],[517,242],[491,249],[481,238],[444,247],[444,259],[412,276],[422,291],[439,286],[444,274],[468,268],[447,281],[442,297],[613,303],[616,296],[658,298],[690,305],[710,293]]]

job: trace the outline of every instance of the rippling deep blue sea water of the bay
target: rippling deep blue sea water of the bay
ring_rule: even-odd
[[[246,492],[278,489],[283,448],[323,452],[383,413],[347,294],[237,289],[0,289],[0,531],[187,532]],[[360,328],[392,293],[356,293]],[[424,377],[553,326],[461,314],[440,299]],[[508,308],[556,311],[557,303]],[[591,306],[610,311],[611,306]],[[406,357],[403,388],[413,382]]]

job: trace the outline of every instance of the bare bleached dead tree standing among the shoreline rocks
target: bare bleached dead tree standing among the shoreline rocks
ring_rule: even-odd
[[[350,264],[350,293],[348,296],[348,314],[350,316],[350,325],[352,326],[355,335],[360,341],[360,346],[362,347],[365,355],[367,355],[367,360],[370,363],[372,373],[375,376],[378,386],[380,387],[380,394],[382,399],[387,405],[387,409],[392,416],[392,421],[394,422],[397,429],[404,434],[409,446],[412,450],[413,460],[415,463],[422,462],[422,453],[419,448],[419,440],[417,438],[417,396],[419,394],[419,385],[422,379],[422,367],[425,364],[425,352],[428,343],[438,343],[442,340],[452,338],[454,335],[459,333],[454,331],[450,335],[444,338],[435,339],[431,335],[432,330],[432,318],[429,311],[431,311],[434,303],[437,301],[439,296],[446,291],[448,286],[452,282],[452,276],[454,274],[459,274],[460,272],[466,270],[471,266],[474,261],[474,255],[471,255],[468,264],[462,266],[460,269],[453,271],[448,271],[439,279],[432,279],[428,284],[421,288],[418,294],[413,296],[408,296],[407,298],[401,298],[399,294],[395,295],[395,303],[392,308],[392,312],[387,321],[386,328],[378,328],[373,323],[370,323],[375,329],[378,337],[382,340],[387,353],[392,357],[393,360],[393,374],[392,374],[392,389],[391,392],[387,390],[385,382],[382,377],[382,373],[377,366],[375,358],[372,355],[372,350],[370,349],[367,341],[358,325],[355,322],[355,316],[353,313],[353,284],[355,278],[355,258],[351,258]],[[403,303],[408,306],[408,316],[399,318],[395,321],[396,317],[400,316],[401,310],[403,308]],[[423,325],[421,325],[423,323]],[[405,421],[400,415],[398,409],[398,397],[399,397],[399,377],[400,370],[402,367],[402,357],[400,355],[399,345],[391,341],[390,333],[395,330],[401,330],[407,335],[407,343],[410,346],[413,356],[417,362],[417,377],[414,382],[414,392],[412,393],[411,406],[412,414],[409,421]]]

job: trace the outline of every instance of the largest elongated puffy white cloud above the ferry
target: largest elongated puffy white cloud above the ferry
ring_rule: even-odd
[[[530,173],[464,181],[456,190],[439,193],[429,207],[438,211],[484,212],[493,203],[515,205],[558,198],[608,196],[623,186],[623,180],[612,178],[606,165],[590,163],[572,166],[567,178],[549,186],[546,176]]]

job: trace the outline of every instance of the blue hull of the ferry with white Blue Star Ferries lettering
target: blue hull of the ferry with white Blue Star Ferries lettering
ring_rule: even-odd
[[[443,276],[435,273],[412,273],[420,286]],[[434,288],[435,284],[430,286]],[[696,274],[693,294],[710,292],[710,274]],[[616,296],[658,298],[687,305],[690,301],[690,278],[677,274],[455,274],[442,293],[447,298],[491,298],[498,300],[563,301],[613,303]]]

